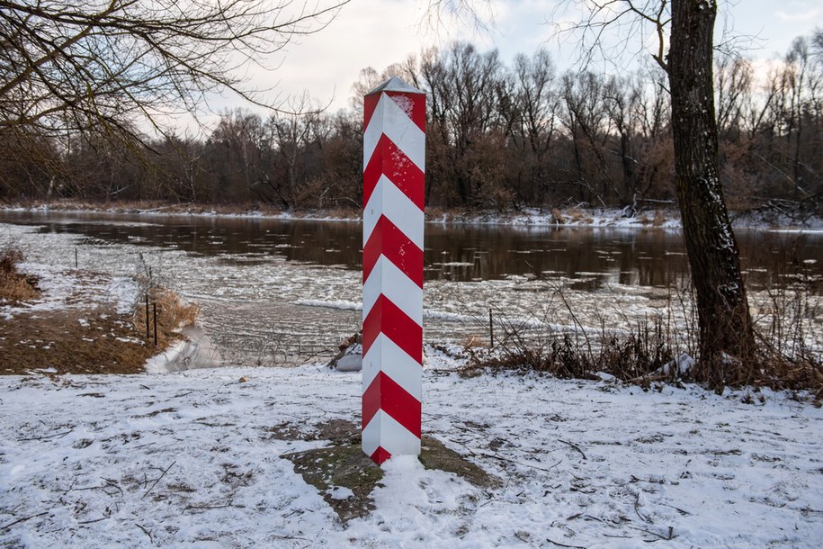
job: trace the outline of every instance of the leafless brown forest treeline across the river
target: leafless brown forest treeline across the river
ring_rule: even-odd
[[[205,138],[0,132],[0,199],[362,205],[362,94],[400,76],[427,94],[425,201],[450,209],[675,206],[666,75],[559,73],[540,49],[507,65],[468,43],[362,70],[352,106],[220,115]],[[823,31],[779,60],[718,55],[715,102],[729,209],[823,212]],[[709,98],[707,98],[707,101]]]

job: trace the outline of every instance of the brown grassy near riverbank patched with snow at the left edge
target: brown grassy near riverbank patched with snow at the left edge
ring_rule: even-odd
[[[196,317],[196,307],[174,293],[141,290],[138,276],[13,255],[32,291],[0,293],[0,375],[143,373],[185,339],[180,325]],[[153,308],[148,329],[144,293]]]

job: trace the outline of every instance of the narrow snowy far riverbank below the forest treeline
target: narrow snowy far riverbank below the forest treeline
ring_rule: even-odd
[[[193,204],[168,202],[20,202],[0,205],[9,211],[62,211],[108,212],[162,216],[218,216],[236,218],[266,218],[280,220],[335,220],[360,221],[359,210],[305,210],[282,211],[266,204]],[[823,230],[823,217],[794,216],[788,212],[729,211],[729,218],[736,228]],[[429,208],[425,213],[427,223],[447,225],[488,224],[522,225],[533,227],[624,227],[679,229],[680,213],[675,204],[640,211],[627,209],[593,209],[584,207],[528,208],[520,211],[466,211]]]

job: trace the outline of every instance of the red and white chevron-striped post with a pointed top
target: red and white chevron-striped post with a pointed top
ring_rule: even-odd
[[[397,77],[363,98],[362,449],[420,454],[425,94]]]

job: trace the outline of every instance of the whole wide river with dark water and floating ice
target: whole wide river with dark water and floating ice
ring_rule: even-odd
[[[327,360],[361,321],[358,222],[0,211],[0,223],[71,237],[69,248],[52,250],[57,258],[42,250],[45,261],[150,270],[200,304],[202,323],[232,364]],[[792,284],[815,298],[823,293],[823,232],[737,235],[756,315]],[[28,253],[34,259],[40,251]],[[425,339],[488,339],[489,311],[500,330],[617,327],[663,312],[685,325],[688,276],[672,229],[430,223]],[[811,314],[812,324],[823,322],[823,313]]]

